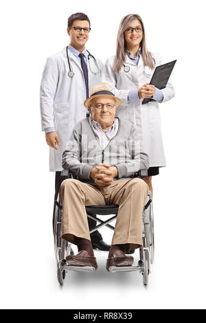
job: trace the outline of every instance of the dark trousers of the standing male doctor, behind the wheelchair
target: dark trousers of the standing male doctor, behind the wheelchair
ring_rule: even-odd
[[[54,194],[54,212],[55,212],[55,201],[58,197],[58,192],[60,189],[60,185],[62,183],[62,181],[64,181],[64,179],[61,177],[61,172],[56,172],[55,175],[55,194]],[[53,227],[54,227],[54,212],[53,212]],[[88,218],[88,223],[89,223],[89,230],[91,230],[93,227],[95,227],[95,225],[97,224],[97,221]],[[100,241],[102,240],[102,234],[100,234],[100,232],[98,232],[98,230],[96,230],[95,232],[90,234],[91,236],[91,242],[92,241]]]

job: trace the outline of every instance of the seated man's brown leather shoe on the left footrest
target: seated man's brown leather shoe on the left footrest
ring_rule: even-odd
[[[72,266],[90,266],[98,269],[98,263],[95,257],[89,256],[87,250],[81,250],[75,256],[69,255],[66,258],[67,264]]]

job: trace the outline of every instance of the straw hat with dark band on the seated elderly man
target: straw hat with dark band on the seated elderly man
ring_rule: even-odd
[[[88,108],[89,102],[93,100],[93,98],[102,98],[102,96],[104,98],[114,98],[116,102],[116,107],[119,107],[119,105],[122,103],[122,101],[119,98],[116,98],[114,93],[112,93],[111,89],[108,87],[108,84],[104,82],[93,87],[90,93],[90,97],[84,101],[84,106]]]

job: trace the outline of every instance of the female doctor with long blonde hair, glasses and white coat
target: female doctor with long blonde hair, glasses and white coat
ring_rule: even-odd
[[[162,90],[149,85],[155,67],[162,64],[159,54],[148,52],[141,17],[138,14],[124,16],[117,34],[116,55],[106,60],[103,80],[122,100],[116,115],[130,120],[143,136],[144,149],[150,157],[148,177],[144,180],[151,192],[152,176],[158,175],[159,167],[165,166],[159,103],[174,97],[170,80]],[[144,98],[153,100],[141,104]]]

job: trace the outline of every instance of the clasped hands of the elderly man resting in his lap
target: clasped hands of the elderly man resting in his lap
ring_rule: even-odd
[[[110,185],[117,175],[117,168],[108,164],[99,164],[98,166],[93,167],[90,172],[90,177],[98,186]]]

